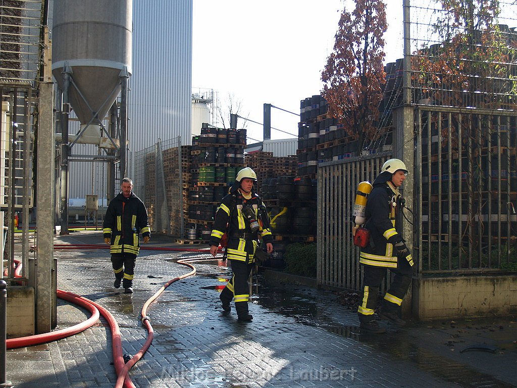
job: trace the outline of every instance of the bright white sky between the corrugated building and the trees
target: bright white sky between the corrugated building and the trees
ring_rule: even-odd
[[[299,114],[300,100],[323,88],[321,72],[345,3],[353,9],[352,0],[193,0],[192,87],[214,89],[223,109],[233,95],[240,115],[258,123],[264,103]],[[393,62],[403,54],[402,1],[389,3],[385,51]],[[296,137],[298,122],[272,109],[271,127],[293,136],[272,129],[271,139]],[[248,137],[263,139],[261,125],[249,122],[247,129]]]

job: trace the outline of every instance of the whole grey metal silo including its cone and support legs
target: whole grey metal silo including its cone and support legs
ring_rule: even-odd
[[[115,186],[115,162],[119,162],[120,176],[126,174],[132,7],[132,0],[54,0],[52,75],[63,92],[58,113],[60,234],[68,234],[68,162],[85,160],[85,155],[81,159],[71,153],[75,143],[111,148],[108,155],[103,156],[103,160],[110,163],[109,188]],[[120,106],[116,107],[114,102],[119,94]],[[70,105],[81,123],[81,131],[72,137],[68,133]],[[108,130],[102,120],[112,107]],[[115,126],[119,126],[118,130]],[[119,138],[115,139],[117,133]],[[90,160],[98,158],[96,155],[88,157]]]

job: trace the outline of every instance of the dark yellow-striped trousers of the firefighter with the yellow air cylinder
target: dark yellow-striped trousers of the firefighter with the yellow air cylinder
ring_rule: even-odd
[[[378,267],[374,265],[362,265],[363,270],[363,295],[359,300],[357,309],[359,320],[361,322],[369,322],[374,319],[373,314],[377,306],[377,297],[382,281],[386,276],[386,267]],[[389,268],[394,273],[393,281],[383,300],[384,311],[399,314],[402,300],[411,284],[413,278],[413,267],[409,265],[405,258],[397,260],[397,268]]]

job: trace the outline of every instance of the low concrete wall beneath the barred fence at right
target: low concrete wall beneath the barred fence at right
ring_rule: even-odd
[[[413,315],[419,320],[503,316],[517,312],[517,277],[413,279]]]

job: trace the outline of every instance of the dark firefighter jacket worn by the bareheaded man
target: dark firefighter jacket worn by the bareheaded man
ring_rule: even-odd
[[[147,210],[142,200],[131,191],[129,198],[119,193],[108,205],[104,218],[104,238],[111,238],[111,253],[140,251],[139,233],[150,236]]]

